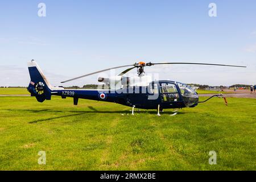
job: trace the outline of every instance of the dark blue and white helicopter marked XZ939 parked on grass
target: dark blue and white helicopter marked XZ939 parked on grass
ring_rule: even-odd
[[[36,97],[38,102],[51,100],[52,96],[60,96],[65,99],[67,97],[73,98],[73,104],[77,105],[79,99],[96,100],[105,102],[114,102],[117,104],[136,107],[138,109],[182,109],[183,107],[195,107],[199,103],[208,101],[213,97],[222,97],[226,105],[228,102],[223,94],[217,94],[205,101],[199,102],[199,95],[187,84],[177,81],[159,80],[153,81],[152,77],[144,72],[145,67],[154,65],[173,65],[173,64],[186,64],[186,65],[211,65],[221,67],[238,67],[246,68],[245,66],[238,65],[225,65],[225,64],[206,64],[206,63],[139,63],[123,65],[96,71],[79,77],[75,77],[61,83],[77,80],[97,73],[110,71],[117,68],[127,68],[119,75],[114,77],[98,77],[98,81],[107,85],[106,89],[64,89],[63,86],[52,86],[39,68],[35,60],[28,62],[28,71],[30,73],[30,84],[27,87],[31,96]],[[138,76],[126,77],[125,74],[133,69],[137,69]],[[111,86],[114,85],[114,88]]]

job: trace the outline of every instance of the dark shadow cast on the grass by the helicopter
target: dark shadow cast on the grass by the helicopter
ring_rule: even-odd
[[[52,118],[46,118],[46,119],[38,119],[35,121],[30,121],[28,123],[38,123],[38,122],[44,122],[44,121],[51,121],[53,119],[60,119],[60,118],[67,118],[67,117],[76,117],[78,115],[84,115],[84,114],[90,114],[90,113],[103,113],[103,114],[131,114],[131,111],[129,110],[115,110],[115,111],[106,111],[106,110],[97,110],[92,106],[88,106],[90,110],[86,111],[76,111],[76,110],[64,110],[68,113],[74,113],[74,114],[68,114],[68,115],[62,115],[59,117],[52,117]],[[7,111],[28,111],[32,113],[40,113],[40,112],[46,112],[46,113],[62,113],[62,110],[51,110],[51,109],[42,109],[42,110],[33,110],[33,109],[5,109]],[[141,110],[141,111],[135,111],[135,114],[156,114],[157,112],[154,110]],[[178,114],[186,114],[184,112],[177,112]],[[191,113],[191,112],[189,112]],[[194,113],[194,112],[193,112]],[[161,115],[171,115],[174,114],[174,111],[164,111],[160,113]]]

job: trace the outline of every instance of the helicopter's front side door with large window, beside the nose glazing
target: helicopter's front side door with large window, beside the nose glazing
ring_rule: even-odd
[[[161,83],[160,84],[160,97],[161,101],[164,102],[177,102],[179,101],[179,92],[175,84],[172,83]]]

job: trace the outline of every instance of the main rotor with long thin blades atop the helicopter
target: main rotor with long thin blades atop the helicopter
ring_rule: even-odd
[[[105,71],[109,71],[110,69],[117,69],[117,68],[124,68],[124,67],[131,67],[131,68],[128,68],[126,69],[125,71],[123,71],[122,73],[120,73],[118,76],[122,76],[122,75],[125,75],[125,73],[131,71],[132,69],[134,68],[137,68],[137,72],[138,72],[138,75],[142,75],[144,73],[144,67],[151,67],[153,65],[162,65],[162,64],[191,64],[191,65],[211,65],[211,66],[221,66],[221,67],[238,67],[238,68],[246,68],[245,66],[239,66],[239,65],[226,65],[226,64],[208,64],[208,63],[182,63],[182,62],[166,62],[166,63],[145,63],[143,61],[139,62],[139,63],[135,63],[135,64],[132,64],[132,65],[123,65],[123,66],[120,66],[120,67],[113,67],[113,68],[108,68],[108,69],[103,69],[101,71],[97,71],[97,72],[93,72],[93,73],[89,73],[89,74],[86,74],[86,75],[82,75],[82,76],[79,76],[79,77],[76,77],[76,78],[72,78],[70,80],[66,80],[66,81],[63,81],[61,83],[65,83],[65,82],[68,82],[68,81],[72,81],[72,80],[77,80],[79,78],[82,78],[82,77],[86,77],[86,76],[90,76],[90,75],[94,75],[96,73],[101,73],[101,72],[105,72]]]

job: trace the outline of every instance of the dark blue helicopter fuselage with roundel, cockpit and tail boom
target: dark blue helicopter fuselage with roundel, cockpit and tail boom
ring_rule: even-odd
[[[62,98],[73,97],[77,105],[79,99],[115,102],[139,109],[161,109],[195,107],[199,97],[195,90],[174,81],[154,81],[150,86],[127,86],[118,90],[52,90],[52,95]]]

